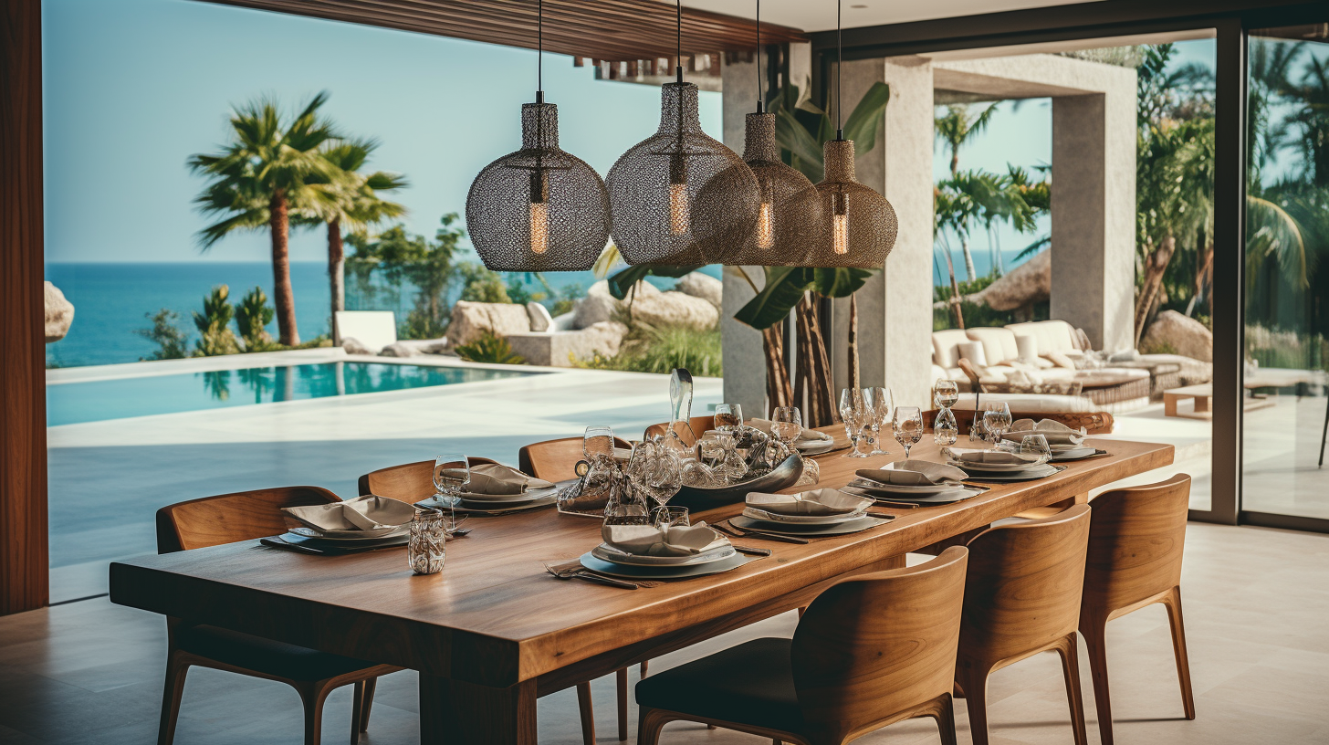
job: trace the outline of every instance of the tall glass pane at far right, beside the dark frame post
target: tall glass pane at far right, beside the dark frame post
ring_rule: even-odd
[[[1249,47],[1241,508],[1329,518],[1329,44],[1324,25]]]

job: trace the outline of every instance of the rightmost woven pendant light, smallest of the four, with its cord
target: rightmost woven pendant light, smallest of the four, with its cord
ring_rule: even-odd
[[[836,32],[840,28],[840,0],[836,0]],[[837,41],[839,44],[839,41]],[[843,118],[840,78],[844,74],[844,51],[836,69],[836,118]],[[839,126],[839,125],[837,125]],[[896,210],[885,197],[859,184],[853,168],[853,140],[836,138],[823,148],[825,174],[816,185],[823,210],[821,235],[813,243],[808,266],[881,269],[896,245]]]

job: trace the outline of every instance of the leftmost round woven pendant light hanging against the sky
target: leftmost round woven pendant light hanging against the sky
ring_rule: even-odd
[[[538,13],[542,60],[542,0]],[[466,230],[493,271],[585,271],[609,242],[609,193],[593,168],[558,148],[558,106],[538,88],[521,106],[521,149],[470,184]]]

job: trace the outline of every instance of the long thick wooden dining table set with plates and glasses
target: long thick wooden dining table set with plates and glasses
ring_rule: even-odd
[[[832,428],[827,428],[832,431]],[[840,436],[843,436],[843,430]],[[930,439],[930,438],[929,438]],[[743,539],[771,556],[659,587],[621,589],[553,577],[601,541],[599,520],[554,510],[476,518],[449,541],[437,575],[412,575],[405,548],[310,556],[243,541],[110,565],[110,600],[420,672],[420,741],[534,744],[536,698],[719,633],[800,608],[848,575],[904,565],[904,555],[1037,507],[1172,463],[1170,444],[1096,440],[1106,450],[1045,479],[991,483],[938,507],[876,508],[894,520],[789,544]],[[819,487],[840,487],[893,455],[817,458]],[[913,458],[941,460],[920,443]],[[983,482],[977,482],[983,483]],[[808,487],[785,490],[800,491]],[[742,503],[692,516],[732,518]]]

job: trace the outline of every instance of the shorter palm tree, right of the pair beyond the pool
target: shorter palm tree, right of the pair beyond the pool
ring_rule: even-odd
[[[323,160],[332,166],[327,184],[314,189],[312,202],[302,210],[300,222],[326,224],[328,234],[328,289],[332,295],[332,343],[342,343],[336,326],[336,313],[346,310],[346,250],[342,231],[364,234],[372,225],[392,217],[401,217],[407,208],[379,197],[408,186],[405,177],[396,173],[360,173],[369,156],[377,149],[376,140],[330,141],[320,149]]]

